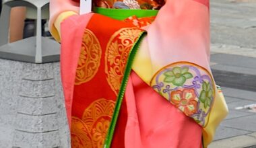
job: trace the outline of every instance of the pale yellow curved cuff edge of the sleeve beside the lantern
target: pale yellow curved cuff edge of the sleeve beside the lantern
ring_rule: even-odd
[[[77,15],[77,13],[74,11],[65,11],[61,13],[55,20],[52,30],[50,30],[53,38],[58,42],[61,42],[61,22],[71,15]]]

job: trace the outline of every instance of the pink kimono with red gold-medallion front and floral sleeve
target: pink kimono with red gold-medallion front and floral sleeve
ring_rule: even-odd
[[[71,147],[207,147],[228,112],[210,70],[207,0],[159,11],[53,0]],[[98,14],[100,13],[100,14]]]

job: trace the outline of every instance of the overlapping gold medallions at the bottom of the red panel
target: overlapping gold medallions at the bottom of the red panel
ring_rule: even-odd
[[[114,108],[114,101],[99,99],[86,108],[82,119],[72,116],[72,148],[103,147]]]

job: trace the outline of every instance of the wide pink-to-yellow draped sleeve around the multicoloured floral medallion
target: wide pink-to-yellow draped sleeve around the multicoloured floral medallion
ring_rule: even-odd
[[[181,67],[190,67],[190,64],[193,63],[193,65],[199,65],[200,67],[198,67],[199,71],[201,71],[199,77],[201,77],[201,74],[212,77],[210,69],[209,0],[167,0],[156,16],[156,20],[146,30],[148,34],[137,51],[133,62],[133,71],[148,85],[160,92],[166,100],[174,101],[174,95],[172,98],[170,96],[171,93],[175,94],[175,92],[170,92],[170,89],[173,90],[179,85],[180,89],[187,91],[186,87],[191,85],[190,82],[187,84],[174,84],[177,79],[172,76],[168,79],[167,76],[164,76],[168,75],[168,73],[165,73],[166,71],[170,69],[176,71]],[[186,80],[184,79],[184,81]],[[197,112],[199,120],[194,118],[199,123],[203,119],[201,120],[203,122],[201,125],[203,127],[203,144],[205,147],[214,139],[216,128],[228,114],[228,107],[222,92],[216,89],[213,77],[210,81],[209,83],[212,84],[214,92],[214,97],[211,99],[211,107],[197,106],[200,111],[204,110],[201,108],[205,108],[205,111]],[[180,87],[181,85],[183,87]],[[197,98],[201,102],[199,94],[201,93],[198,92]],[[185,114],[189,115],[190,113],[185,111]],[[201,115],[205,116],[205,118],[201,118]],[[191,117],[193,118],[194,116]]]

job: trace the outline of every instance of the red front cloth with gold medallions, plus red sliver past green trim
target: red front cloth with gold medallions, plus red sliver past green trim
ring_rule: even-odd
[[[102,23],[108,22],[105,26]],[[108,26],[111,24],[111,27]],[[133,44],[143,30],[94,14],[84,30],[73,91],[72,147],[102,147]],[[104,34],[104,36],[102,36]],[[125,44],[125,45],[124,45]],[[113,147],[124,147],[127,108],[121,106]]]

